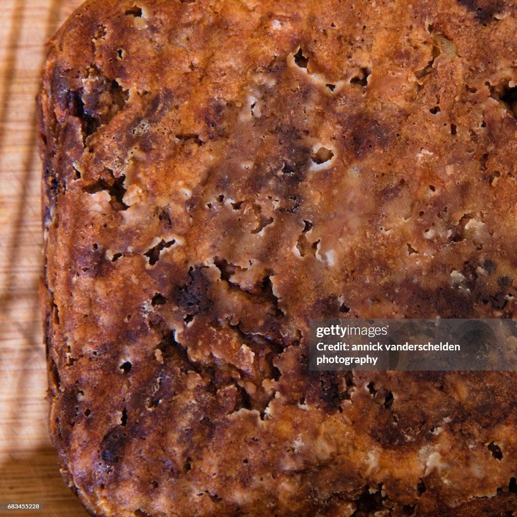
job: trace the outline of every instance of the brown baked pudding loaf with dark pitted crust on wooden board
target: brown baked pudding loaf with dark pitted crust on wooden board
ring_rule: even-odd
[[[513,317],[510,3],[92,0],[39,97],[50,431],[95,515],[514,515],[513,372],[309,372],[311,317]]]

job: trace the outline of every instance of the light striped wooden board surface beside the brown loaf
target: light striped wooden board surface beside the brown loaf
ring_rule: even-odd
[[[85,517],[47,432],[37,305],[41,275],[35,96],[45,41],[81,0],[0,0],[0,503],[42,503],[0,517]]]

